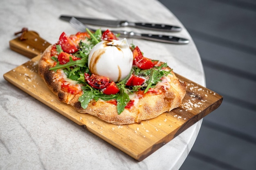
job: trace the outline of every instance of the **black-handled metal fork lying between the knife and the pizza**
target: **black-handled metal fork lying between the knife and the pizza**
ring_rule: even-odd
[[[79,20],[77,20],[75,17],[72,17],[70,19],[70,25],[75,28],[77,31],[85,32],[86,28],[88,28],[90,31],[95,32],[96,30],[93,28],[90,28],[89,26],[83,24]],[[104,31],[102,31],[104,32]],[[147,39],[151,41],[158,41],[158,42],[164,42],[164,43],[171,43],[171,44],[188,44],[189,40],[181,37],[173,37],[171,35],[152,35],[152,34],[141,34],[141,33],[135,33],[135,32],[128,32],[128,31],[111,31],[112,33],[120,34],[122,37],[127,38],[139,38],[139,39]]]

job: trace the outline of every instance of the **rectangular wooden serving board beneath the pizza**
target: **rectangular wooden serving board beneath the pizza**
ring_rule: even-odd
[[[38,36],[37,41],[39,38]],[[35,47],[29,48],[26,41],[13,39],[10,41],[10,47],[13,50],[18,49],[15,50],[17,52],[22,51],[22,54],[30,53],[30,56],[34,54],[36,57],[5,73],[4,78],[138,161],[142,161],[195,122],[217,109],[222,102],[222,96],[219,94],[177,74],[181,81],[188,83],[186,96],[180,107],[163,113],[157,118],[142,121],[140,124],[121,126],[110,124],[95,116],[78,113],[70,105],[60,102],[38,75],[40,50],[35,51]],[[34,38],[28,41],[34,41]],[[38,46],[45,45],[38,44]],[[25,52],[28,50],[29,52]]]

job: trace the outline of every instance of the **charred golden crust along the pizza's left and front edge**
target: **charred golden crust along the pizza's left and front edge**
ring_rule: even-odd
[[[117,106],[104,100],[90,101],[88,107],[83,109],[79,102],[79,97],[83,94],[70,94],[61,90],[59,72],[50,71],[54,66],[51,59],[51,48],[49,46],[39,61],[38,73],[43,78],[47,87],[56,95],[61,102],[72,105],[79,113],[88,113],[97,116],[103,121],[122,125],[140,122],[159,116],[160,114],[171,111],[181,105],[182,99],[186,94],[186,83],[182,83],[175,76],[174,72],[167,77],[168,87],[160,88],[161,93],[146,93],[137,99],[137,102],[130,109],[124,109],[121,114],[117,113]],[[160,84],[159,84],[160,85]],[[161,85],[160,85],[161,86]]]

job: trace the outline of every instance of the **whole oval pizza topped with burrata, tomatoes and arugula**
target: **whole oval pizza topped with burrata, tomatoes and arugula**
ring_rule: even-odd
[[[61,102],[108,123],[139,123],[181,105],[186,83],[167,63],[107,30],[61,34],[39,61],[38,73]]]

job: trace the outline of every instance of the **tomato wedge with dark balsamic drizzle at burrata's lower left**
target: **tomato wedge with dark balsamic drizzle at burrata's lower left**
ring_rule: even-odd
[[[95,89],[103,89],[108,86],[109,78],[104,76],[98,76],[95,74],[85,73],[85,80]]]

